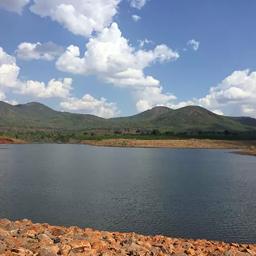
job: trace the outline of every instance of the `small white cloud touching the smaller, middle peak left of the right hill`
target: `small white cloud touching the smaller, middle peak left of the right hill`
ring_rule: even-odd
[[[152,109],[156,105],[170,106],[176,97],[172,94],[162,93],[162,87],[146,87],[142,91],[134,92],[133,97],[137,99],[136,107],[139,112]]]

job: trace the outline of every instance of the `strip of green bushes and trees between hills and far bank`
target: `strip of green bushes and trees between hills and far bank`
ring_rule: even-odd
[[[6,129],[6,128],[5,128]],[[2,131],[1,131],[2,130]],[[160,132],[159,130],[136,130],[125,132],[120,130],[88,130],[88,131],[48,131],[28,129],[8,129],[3,131],[0,127],[0,137],[14,138],[27,142],[38,143],[80,143],[84,140],[108,139],[139,139],[139,140],[256,140],[256,131],[230,132],[224,131],[188,131],[188,132]]]

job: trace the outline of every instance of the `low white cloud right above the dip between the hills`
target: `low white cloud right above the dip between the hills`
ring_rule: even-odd
[[[60,107],[69,111],[86,111],[86,113],[104,118],[111,118],[120,114],[116,103],[108,103],[105,98],[97,100],[89,94],[84,95],[81,99],[67,98],[66,101],[60,103]]]

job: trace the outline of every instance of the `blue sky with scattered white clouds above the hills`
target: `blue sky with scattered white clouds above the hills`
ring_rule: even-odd
[[[256,118],[255,0],[0,0],[0,100],[104,118]]]

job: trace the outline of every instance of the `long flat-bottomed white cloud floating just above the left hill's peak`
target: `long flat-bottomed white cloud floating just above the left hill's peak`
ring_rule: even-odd
[[[70,90],[73,89],[71,85],[71,78],[59,80],[52,79],[48,82],[48,86],[45,86],[44,82],[26,81],[19,82],[19,89],[14,90],[13,93],[30,95],[38,98],[67,98],[70,96]]]

